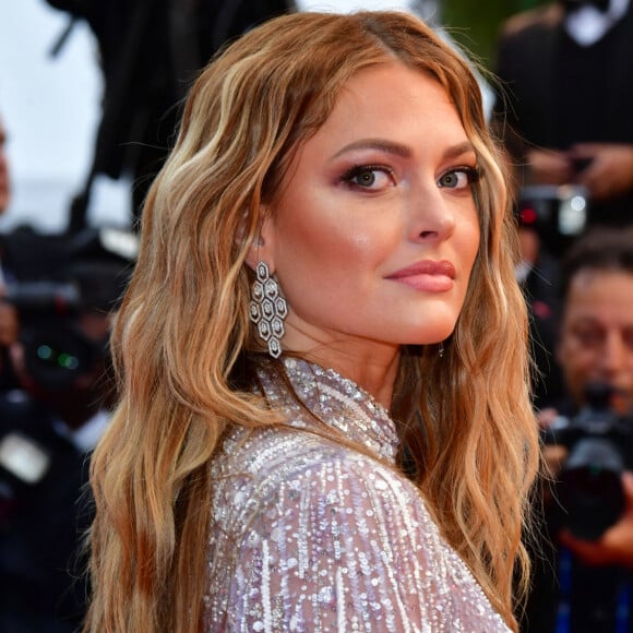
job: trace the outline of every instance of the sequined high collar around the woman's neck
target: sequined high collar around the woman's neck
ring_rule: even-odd
[[[284,367],[306,408],[265,372],[261,372],[260,378],[268,402],[288,413],[291,426],[313,426],[315,417],[344,433],[349,441],[395,462],[398,449],[395,423],[371,394],[333,369],[298,358],[285,358]]]

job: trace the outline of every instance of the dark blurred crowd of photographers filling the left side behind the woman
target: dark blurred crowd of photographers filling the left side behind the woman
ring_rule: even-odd
[[[226,39],[291,7],[48,3],[89,25],[105,91],[93,164],[67,230],[19,226],[0,236],[0,633],[82,626],[89,587],[83,540],[94,514],[89,457],[116,402],[109,330],[134,251],[106,238],[135,241],[139,207],[165,159],[179,100],[204,61]],[[10,133],[11,121],[5,129],[0,119],[0,213],[11,203]],[[135,182],[128,235],[88,226],[98,175]]]

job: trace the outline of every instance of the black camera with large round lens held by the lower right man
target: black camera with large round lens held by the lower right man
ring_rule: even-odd
[[[610,408],[609,385],[594,383],[585,391],[587,405],[575,417],[557,418],[544,442],[569,451],[556,483],[557,523],[577,538],[595,540],[624,510],[621,475],[633,469],[633,417]]]

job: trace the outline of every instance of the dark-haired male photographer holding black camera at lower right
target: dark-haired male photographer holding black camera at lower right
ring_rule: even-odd
[[[539,414],[558,479],[545,507],[556,553],[537,560],[524,630],[633,631],[633,228],[578,238],[561,291],[568,397]]]

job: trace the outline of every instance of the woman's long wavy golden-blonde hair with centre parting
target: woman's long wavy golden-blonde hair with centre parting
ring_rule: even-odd
[[[437,346],[404,349],[393,413],[446,539],[516,628],[513,578],[528,566],[522,528],[538,445],[515,228],[479,86],[461,55],[410,14],[303,12],[254,28],[204,69],[148,192],[112,332],[121,397],[92,459],[85,631],[201,629],[210,464],[230,427],[279,421],[248,384],[261,344],[244,260],[262,205],[350,77],[394,60],[445,88],[483,177],[463,312],[441,360]]]

